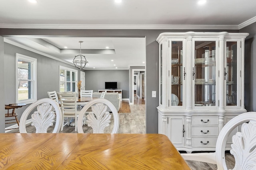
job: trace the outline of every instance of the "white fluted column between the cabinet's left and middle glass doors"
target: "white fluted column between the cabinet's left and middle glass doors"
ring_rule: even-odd
[[[186,62],[188,63],[186,66],[187,70],[192,70],[192,36],[186,38]],[[190,72],[190,71],[189,71]],[[187,74],[186,83],[188,85],[192,84],[192,74]],[[186,86],[186,109],[192,110],[192,86]]]

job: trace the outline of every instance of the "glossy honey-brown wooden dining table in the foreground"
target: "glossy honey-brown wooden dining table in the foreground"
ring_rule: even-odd
[[[190,170],[161,134],[0,133],[0,169]]]

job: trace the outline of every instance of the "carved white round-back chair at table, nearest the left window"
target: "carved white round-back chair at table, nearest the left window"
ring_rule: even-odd
[[[35,109],[36,111],[34,111]],[[26,121],[32,111],[34,113],[31,115],[31,125],[36,128],[36,133],[47,133],[48,128],[53,126],[54,122],[55,126],[52,133],[59,133],[62,120],[61,109],[59,104],[50,98],[37,100],[25,109],[20,117],[20,133],[27,133]]]

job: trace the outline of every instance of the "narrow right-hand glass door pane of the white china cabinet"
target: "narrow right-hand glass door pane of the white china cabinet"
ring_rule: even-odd
[[[237,106],[237,41],[226,42],[226,67],[224,68],[224,80],[226,81],[226,106]]]

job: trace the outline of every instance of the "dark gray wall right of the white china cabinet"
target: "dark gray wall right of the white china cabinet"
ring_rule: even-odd
[[[239,32],[250,34],[245,41],[244,105],[247,111],[256,111],[256,23]]]

